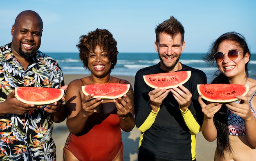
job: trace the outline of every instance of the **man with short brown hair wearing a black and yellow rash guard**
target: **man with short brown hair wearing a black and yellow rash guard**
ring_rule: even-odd
[[[185,48],[179,21],[171,16],[155,33],[160,62],[135,76],[135,117],[141,131],[138,161],[195,161],[195,134],[203,120],[197,84],[207,83],[207,78],[204,72],[179,62]],[[175,71],[191,71],[189,81],[172,89],[153,89],[143,79],[143,75]]]

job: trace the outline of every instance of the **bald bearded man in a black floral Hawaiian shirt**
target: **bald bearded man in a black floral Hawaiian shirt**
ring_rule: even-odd
[[[1,161],[56,160],[53,121],[65,120],[64,101],[24,104],[14,97],[13,90],[18,86],[67,88],[57,62],[38,50],[42,32],[40,16],[22,11],[11,28],[12,42],[0,46]]]

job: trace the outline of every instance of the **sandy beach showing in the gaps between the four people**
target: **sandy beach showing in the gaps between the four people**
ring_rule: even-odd
[[[85,76],[86,75],[64,75],[65,84],[69,84],[72,80],[79,79]],[[134,84],[134,77],[117,75],[112,76],[126,79],[132,84],[132,86]],[[57,161],[62,161],[63,147],[65,145],[68,134],[69,131],[66,126],[66,121],[63,121],[61,123],[54,123],[52,137],[56,144]],[[139,130],[137,130],[136,126],[131,132],[122,132],[122,141],[124,143],[124,161],[137,161],[139,135],[140,132]],[[201,132],[196,135],[196,139],[197,161],[213,161],[214,152],[216,149],[216,141],[212,143],[208,142],[204,139]]]

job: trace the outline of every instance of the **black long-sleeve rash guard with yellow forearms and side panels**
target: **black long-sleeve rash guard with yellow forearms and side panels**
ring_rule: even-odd
[[[137,128],[141,131],[139,141],[139,160],[154,161],[166,159],[184,161],[195,159],[195,134],[200,132],[203,113],[198,103],[197,84],[206,84],[204,72],[182,64],[182,70],[191,71],[188,82],[183,84],[192,96],[192,103],[183,112],[170,92],[153,112],[148,93],[153,90],[143,79],[143,75],[165,73],[159,64],[143,68],[136,73],[134,86],[135,117]]]

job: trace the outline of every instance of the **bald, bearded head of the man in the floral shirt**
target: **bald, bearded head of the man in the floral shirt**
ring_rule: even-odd
[[[43,22],[33,11],[24,11],[17,16],[12,26],[11,50],[14,55],[30,61],[41,44]]]

